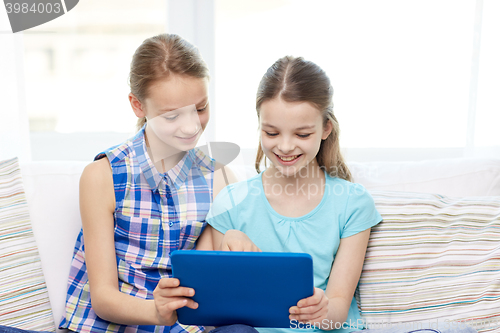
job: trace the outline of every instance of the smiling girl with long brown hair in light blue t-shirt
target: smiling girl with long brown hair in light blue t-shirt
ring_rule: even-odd
[[[319,332],[312,327],[318,323],[324,330],[362,328],[353,295],[370,228],[382,218],[368,192],[350,182],[332,95],[316,64],[295,57],[276,61],[257,91],[259,174],[224,188],[207,216],[213,243],[224,249],[230,248],[228,237],[240,235],[248,249],[313,257],[314,295],[290,308],[290,329],[259,332]],[[260,172],[264,156],[270,165]]]

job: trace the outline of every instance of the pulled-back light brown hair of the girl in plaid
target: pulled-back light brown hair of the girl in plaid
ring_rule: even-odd
[[[140,102],[148,96],[148,89],[156,80],[171,74],[209,78],[208,67],[198,49],[174,34],[161,34],[146,39],[135,51],[130,64],[130,92]],[[137,121],[137,129],[146,118]]]

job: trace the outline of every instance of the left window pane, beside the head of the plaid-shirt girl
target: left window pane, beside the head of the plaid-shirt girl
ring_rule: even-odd
[[[166,16],[165,0],[85,0],[24,33],[33,159],[89,160],[134,132],[130,61]]]

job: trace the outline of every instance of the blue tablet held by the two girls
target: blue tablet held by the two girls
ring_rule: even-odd
[[[181,324],[289,328],[290,307],[314,292],[305,253],[178,250],[171,259],[173,277],[198,303],[177,310]]]

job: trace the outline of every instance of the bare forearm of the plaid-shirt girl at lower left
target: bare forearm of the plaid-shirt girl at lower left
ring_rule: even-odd
[[[112,323],[160,325],[154,300],[130,296],[116,288],[101,288],[93,292],[92,307],[100,318]]]

